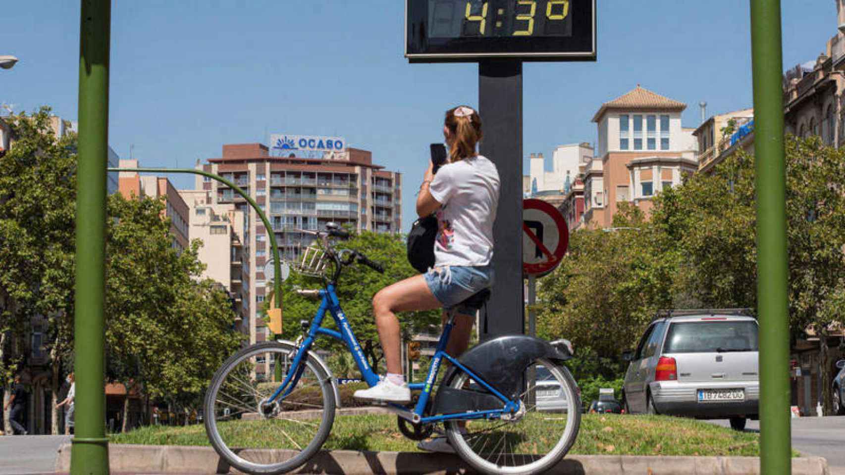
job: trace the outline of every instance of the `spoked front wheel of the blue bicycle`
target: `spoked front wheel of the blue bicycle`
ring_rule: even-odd
[[[335,393],[330,375],[311,356],[289,368],[297,348],[287,343],[259,343],[243,348],[222,365],[205,393],[205,431],[211,445],[242,472],[290,472],[308,462],[329,437],[335,421]],[[270,397],[281,381],[260,378],[268,362],[293,370],[296,386],[285,397]]]

